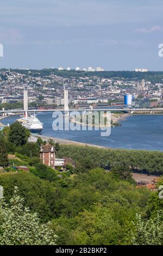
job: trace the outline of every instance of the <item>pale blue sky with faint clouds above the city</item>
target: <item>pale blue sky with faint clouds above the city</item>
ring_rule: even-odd
[[[0,68],[163,71],[162,0],[1,0]]]

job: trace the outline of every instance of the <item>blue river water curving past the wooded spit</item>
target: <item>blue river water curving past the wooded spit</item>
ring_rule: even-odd
[[[146,149],[163,151],[163,115],[133,115],[121,121],[122,126],[112,127],[109,137],[101,131],[54,131],[52,112],[38,113],[43,123],[41,135],[71,141],[101,145],[108,148]],[[8,117],[1,122],[13,123],[18,117]]]

